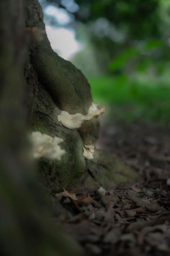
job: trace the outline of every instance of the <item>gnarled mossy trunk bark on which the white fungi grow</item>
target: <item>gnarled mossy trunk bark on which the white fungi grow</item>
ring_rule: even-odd
[[[43,12],[38,0],[27,0],[25,3],[26,26],[44,30]],[[94,144],[97,139],[98,119],[86,121],[79,129],[72,130],[61,126],[58,122],[57,116],[62,110],[71,114],[87,114],[93,100],[86,77],[71,62],[53,52],[46,34],[41,43],[30,43],[26,79],[31,91],[30,130],[41,131],[64,139],[62,148],[66,154],[60,162],[40,160],[39,166],[44,184],[53,192],[57,192],[62,187],[67,188],[77,183],[87,170],[89,170],[89,175],[92,175],[93,170],[101,170],[102,163],[97,160],[86,161],[83,157],[83,145]],[[115,164],[114,159],[112,164],[114,168],[109,169],[106,165],[106,171],[97,171],[95,175],[92,175],[93,181],[97,181],[98,186],[102,184],[108,187],[112,182],[124,183],[128,180],[128,173],[132,181],[136,179],[133,170],[124,166],[120,175],[117,174],[120,168]],[[132,172],[134,177],[130,175]],[[108,179],[109,183],[103,183],[103,179]]]

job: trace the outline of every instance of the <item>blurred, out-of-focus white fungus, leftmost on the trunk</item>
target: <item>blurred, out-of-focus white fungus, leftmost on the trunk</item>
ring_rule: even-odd
[[[63,142],[63,139],[58,137],[51,137],[48,134],[42,134],[39,131],[34,131],[31,134],[31,140],[33,143],[33,157],[40,158],[46,157],[50,159],[61,160],[65,150],[62,150],[59,143]]]

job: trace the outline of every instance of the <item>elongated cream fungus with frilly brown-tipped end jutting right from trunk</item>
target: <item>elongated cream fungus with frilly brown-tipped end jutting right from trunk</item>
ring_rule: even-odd
[[[102,109],[100,109],[100,107],[101,103],[96,105],[92,102],[86,116],[80,113],[71,115],[66,111],[62,111],[61,114],[58,115],[58,121],[69,129],[79,128],[84,121],[92,118],[98,118],[100,115],[102,115],[105,112],[106,106],[104,106]]]

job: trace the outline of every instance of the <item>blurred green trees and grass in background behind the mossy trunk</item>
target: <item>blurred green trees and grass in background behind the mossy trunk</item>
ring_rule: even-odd
[[[47,26],[75,30],[83,46],[71,61],[88,77],[95,101],[118,106],[119,116],[130,105],[126,119],[169,121],[169,0],[40,2]]]

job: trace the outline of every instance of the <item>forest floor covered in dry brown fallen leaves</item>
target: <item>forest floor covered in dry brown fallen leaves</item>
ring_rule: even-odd
[[[133,167],[141,180],[71,195],[84,204],[89,198],[83,212],[63,221],[85,255],[170,255],[169,134],[169,128],[153,123],[105,120],[96,147]]]

